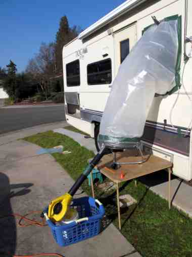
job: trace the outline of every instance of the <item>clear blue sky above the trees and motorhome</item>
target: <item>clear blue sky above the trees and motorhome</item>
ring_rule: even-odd
[[[38,52],[41,42],[55,40],[60,18],[85,29],[125,0],[0,0],[0,66],[12,59],[18,71]]]

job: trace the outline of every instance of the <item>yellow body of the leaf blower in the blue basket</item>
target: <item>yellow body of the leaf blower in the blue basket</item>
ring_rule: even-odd
[[[72,196],[68,193],[54,199],[49,205],[48,217],[54,222],[60,222],[64,217],[69,218],[72,215],[70,210],[70,204],[72,199]],[[54,213],[54,207],[58,203],[61,203],[62,208],[61,211],[56,214]]]

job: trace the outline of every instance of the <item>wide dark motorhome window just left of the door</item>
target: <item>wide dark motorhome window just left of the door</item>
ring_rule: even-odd
[[[87,65],[88,85],[111,84],[111,59],[93,62]]]

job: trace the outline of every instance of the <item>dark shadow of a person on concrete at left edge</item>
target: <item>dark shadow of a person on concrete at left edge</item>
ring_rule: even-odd
[[[26,195],[32,183],[10,185],[9,177],[0,172],[0,256],[13,256],[17,243],[16,220],[12,216],[10,198]],[[22,189],[21,189],[22,188]],[[18,190],[21,189],[21,190]],[[16,192],[14,191],[16,190]],[[5,217],[4,217],[5,216]]]

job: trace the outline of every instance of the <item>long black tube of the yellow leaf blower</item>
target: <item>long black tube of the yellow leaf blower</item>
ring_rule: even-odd
[[[72,188],[68,192],[71,196],[74,196],[74,194],[80,188],[80,186],[82,185],[84,180],[87,178],[87,176],[91,172],[91,170],[94,168],[94,166],[97,165],[99,163],[99,161],[102,159],[102,157],[107,153],[106,150],[107,150],[107,148],[104,146],[101,149],[101,151],[97,155],[95,155],[95,157],[88,164],[88,166],[85,168],[83,173],[77,178],[76,182],[73,184]]]

